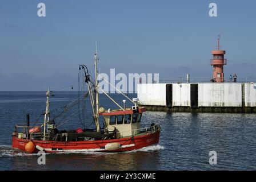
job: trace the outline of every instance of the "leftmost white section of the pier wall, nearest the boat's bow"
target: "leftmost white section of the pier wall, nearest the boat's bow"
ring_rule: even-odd
[[[166,84],[138,84],[139,104],[166,106]]]

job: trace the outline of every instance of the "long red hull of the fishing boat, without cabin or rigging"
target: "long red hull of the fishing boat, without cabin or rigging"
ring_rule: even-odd
[[[110,140],[95,140],[95,141],[82,141],[82,142],[55,142],[55,141],[41,141],[32,140],[35,146],[42,147],[45,152],[60,152],[69,150],[96,150],[102,152],[122,152],[136,150],[142,147],[150,146],[159,142],[160,131],[155,131],[151,134],[139,135],[135,137],[110,139]],[[13,148],[22,151],[25,150],[26,143],[30,142],[29,139],[19,139],[13,137]],[[113,151],[105,150],[107,143],[119,143],[121,148]],[[37,149],[34,152],[38,152]]]

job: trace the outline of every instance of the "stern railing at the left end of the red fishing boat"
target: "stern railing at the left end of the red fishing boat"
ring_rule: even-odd
[[[22,139],[29,139],[32,137],[33,134],[35,134],[34,132],[30,133],[30,129],[37,129],[37,128],[41,128],[43,123],[30,123],[30,124],[37,124],[38,126],[15,126],[15,131],[16,131],[16,137],[17,138],[22,138]],[[42,124],[42,125],[41,125]],[[21,132],[19,132],[21,131]],[[20,135],[20,136],[19,136]]]

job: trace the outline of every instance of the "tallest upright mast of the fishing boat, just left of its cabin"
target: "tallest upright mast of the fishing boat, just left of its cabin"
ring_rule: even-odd
[[[97,61],[98,61],[98,57],[97,57],[97,43],[96,43],[96,53],[94,54],[94,59],[95,59],[95,125],[96,125],[96,131],[100,132],[101,128],[99,127],[99,95],[98,95],[98,70],[97,70]]]

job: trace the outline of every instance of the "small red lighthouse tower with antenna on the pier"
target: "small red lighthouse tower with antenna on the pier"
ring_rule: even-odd
[[[219,50],[219,38],[221,35],[218,35],[218,46],[217,50],[211,51],[213,59],[211,59],[211,65],[213,65],[213,80],[216,82],[224,81],[224,72],[223,66],[227,64],[227,59],[224,59],[226,51]]]

